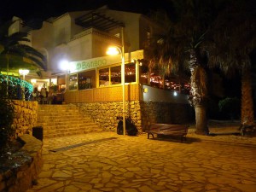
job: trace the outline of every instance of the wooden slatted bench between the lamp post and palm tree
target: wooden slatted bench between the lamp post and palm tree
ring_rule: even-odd
[[[177,136],[181,137],[181,142],[183,139],[186,140],[186,136],[189,130],[189,125],[178,125],[178,124],[152,124],[149,126],[149,130],[145,131],[154,138],[154,134],[166,135],[166,136]]]

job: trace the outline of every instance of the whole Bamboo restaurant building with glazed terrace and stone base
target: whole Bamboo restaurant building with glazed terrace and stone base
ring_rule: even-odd
[[[59,101],[78,105],[105,129],[115,129],[116,117],[123,114],[123,89],[125,116],[140,131],[155,122],[182,123],[191,114],[186,96],[159,89],[166,82],[148,72],[143,51],[150,38],[164,32],[145,15],[104,7],[50,18],[30,32],[32,47],[48,61],[43,78],[31,82],[38,90],[55,87]],[[106,55],[109,46],[123,48],[123,73],[121,54]],[[158,88],[152,87],[153,82]],[[171,83],[167,84],[173,88]]]

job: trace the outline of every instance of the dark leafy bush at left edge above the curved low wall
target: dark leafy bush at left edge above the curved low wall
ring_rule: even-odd
[[[2,85],[2,86],[1,86]],[[14,120],[14,107],[6,96],[6,89],[0,84],[0,152],[5,148],[15,130],[12,128]]]

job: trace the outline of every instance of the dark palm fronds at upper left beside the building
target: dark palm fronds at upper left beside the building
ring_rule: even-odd
[[[27,32],[15,32],[9,35],[9,27],[15,21],[7,21],[0,25],[0,69],[5,69],[9,73],[9,68],[24,67],[36,69],[40,75],[40,70],[47,69],[45,57],[38,50],[22,44],[22,42],[30,42]]]

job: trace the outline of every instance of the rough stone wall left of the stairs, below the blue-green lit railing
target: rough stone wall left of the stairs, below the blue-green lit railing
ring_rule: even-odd
[[[13,100],[15,119],[12,127],[15,129],[15,138],[25,133],[32,134],[32,127],[38,119],[38,102]]]

